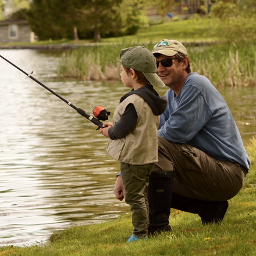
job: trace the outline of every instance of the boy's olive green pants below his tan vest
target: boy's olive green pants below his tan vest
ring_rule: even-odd
[[[125,203],[132,211],[133,235],[146,237],[149,225],[148,186],[154,163],[136,166],[120,163],[121,177],[125,188]]]

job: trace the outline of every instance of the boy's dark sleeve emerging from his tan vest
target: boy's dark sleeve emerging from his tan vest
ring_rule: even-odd
[[[136,125],[138,120],[138,115],[135,107],[132,103],[127,105],[125,112],[121,115],[117,123],[114,124],[108,130],[108,136],[110,139],[120,139],[128,135],[133,127]]]

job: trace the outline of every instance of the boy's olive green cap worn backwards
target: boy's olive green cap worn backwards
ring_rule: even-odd
[[[143,72],[148,81],[156,87],[164,87],[165,84],[156,75],[156,58],[144,46],[125,48],[120,53],[120,63],[126,68]]]

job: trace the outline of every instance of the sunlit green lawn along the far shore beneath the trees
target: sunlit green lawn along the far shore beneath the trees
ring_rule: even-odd
[[[180,21],[163,22],[158,25],[151,25],[145,28],[139,29],[134,35],[120,36],[115,38],[102,38],[100,44],[117,43],[129,41],[129,42],[145,42],[145,41],[160,41],[163,38],[176,38],[183,42],[209,42],[215,40],[208,36],[208,29],[210,20],[203,19],[191,19]],[[93,39],[86,40],[47,40],[47,41],[34,41],[31,42],[9,42],[1,43],[1,46],[54,46],[54,45],[90,45],[93,44]]]

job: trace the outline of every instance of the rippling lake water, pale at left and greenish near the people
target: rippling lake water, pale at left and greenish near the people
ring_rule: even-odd
[[[0,54],[89,114],[97,105],[113,114],[130,90],[121,82],[57,80],[52,52]],[[108,139],[2,58],[0,67],[0,245],[44,242],[53,231],[130,212],[113,194],[119,164],[105,154]],[[256,135],[256,88],[219,91],[248,144]]]

